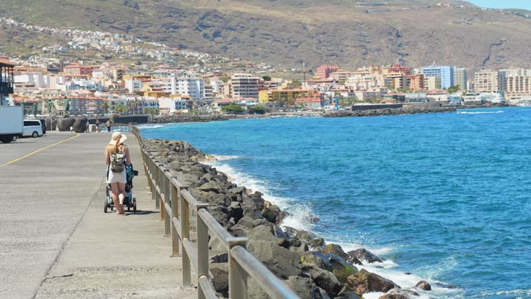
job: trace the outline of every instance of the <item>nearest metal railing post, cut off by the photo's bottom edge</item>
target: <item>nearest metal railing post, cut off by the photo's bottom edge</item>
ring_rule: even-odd
[[[247,273],[232,257],[232,248],[235,246],[247,246],[248,239],[245,237],[232,237],[227,239],[229,243],[229,298],[247,299]]]

